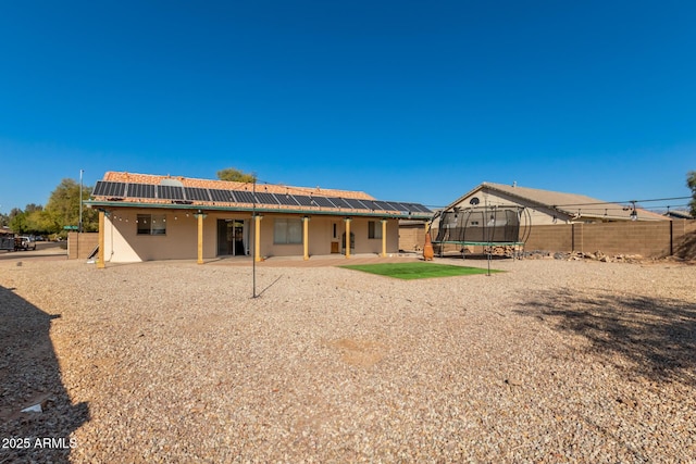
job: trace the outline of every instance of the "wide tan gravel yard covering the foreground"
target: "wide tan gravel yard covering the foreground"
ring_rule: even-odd
[[[290,264],[1,261],[0,463],[696,462],[694,265]]]

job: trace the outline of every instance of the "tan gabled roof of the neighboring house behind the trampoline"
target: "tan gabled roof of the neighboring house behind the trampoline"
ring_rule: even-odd
[[[538,206],[555,210],[569,218],[597,218],[629,221],[632,218],[633,205],[622,205],[610,203],[596,198],[577,193],[566,193],[552,190],[542,190],[537,188],[510,186],[505,184],[483,183],[473,190],[452,202],[449,208],[460,203],[463,199],[477,193],[478,191],[497,192],[523,204],[536,204]],[[636,208],[638,218],[642,221],[663,221],[664,216]]]

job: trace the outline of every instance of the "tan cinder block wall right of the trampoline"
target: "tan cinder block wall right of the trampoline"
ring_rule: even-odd
[[[618,222],[532,226],[525,249],[581,251],[606,254],[641,254],[645,258],[674,253],[696,221]]]

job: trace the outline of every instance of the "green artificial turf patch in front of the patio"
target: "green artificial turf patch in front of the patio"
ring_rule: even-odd
[[[431,277],[468,276],[486,274],[488,272],[480,267],[453,266],[451,264],[425,263],[422,261],[412,263],[350,264],[339,267],[407,280]],[[490,269],[490,273],[499,272],[500,271]]]

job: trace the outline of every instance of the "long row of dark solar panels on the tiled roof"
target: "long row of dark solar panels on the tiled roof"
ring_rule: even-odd
[[[408,214],[433,213],[420,203],[269,192],[256,192],[254,199],[253,193],[248,190],[222,190],[171,185],[113,183],[107,180],[97,181],[92,195],[95,197],[108,198],[162,199],[174,202],[206,201],[214,203],[256,203],[259,205],[274,206],[319,206],[339,210],[398,211]]]

